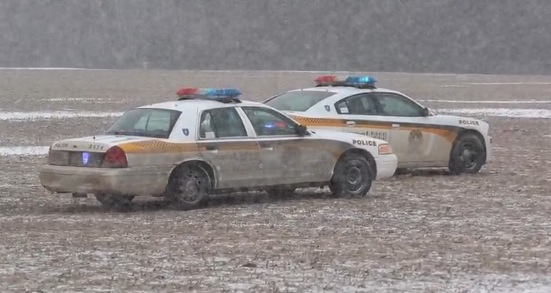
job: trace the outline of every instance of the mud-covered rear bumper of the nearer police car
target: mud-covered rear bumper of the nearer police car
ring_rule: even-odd
[[[44,165],[40,184],[57,193],[110,193],[119,195],[161,195],[168,174],[154,168],[82,168]]]

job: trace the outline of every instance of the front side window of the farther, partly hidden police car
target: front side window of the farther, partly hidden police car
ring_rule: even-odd
[[[423,108],[404,96],[393,93],[376,93],[376,97],[380,104],[380,115],[423,116]]]

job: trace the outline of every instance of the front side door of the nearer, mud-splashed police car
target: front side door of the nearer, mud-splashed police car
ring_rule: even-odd
[[[256,132],[266,185],[316,182],[328,160],[316,141],[297,134],[296,123],[265,107],[241,107]]]

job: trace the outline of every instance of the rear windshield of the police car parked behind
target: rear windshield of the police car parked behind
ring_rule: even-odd
[[[276,96],[265,104],[281,111],[302,112],[334,94],[330,91],[292,91]]]

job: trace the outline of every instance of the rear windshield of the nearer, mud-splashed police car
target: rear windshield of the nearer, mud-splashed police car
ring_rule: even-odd
[[[168,138],[180,114],[168,109],[132,109],[115,121],[106,134]]]

